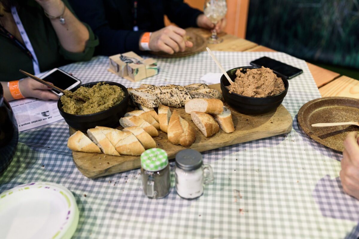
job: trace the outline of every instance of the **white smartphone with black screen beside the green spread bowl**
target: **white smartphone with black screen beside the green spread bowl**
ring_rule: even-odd
[[[63,90],[69,90],[81,84],[81,81],[79,79],[73,77],[69,73],[64,72],[59,68],[54,68],[50,70],[46,74],[42,75],[40,78],[44,81],[53,83],[54,86],[57,86]],[[62,96],[62,93],[59,91],[56,91],[54,89],[51,89],[51,91],[58,96]]]

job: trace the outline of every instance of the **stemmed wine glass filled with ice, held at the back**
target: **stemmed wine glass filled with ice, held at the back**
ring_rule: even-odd
[[[204,15],[216,25],[227,13],[227,3],[225,0],[205,0],[203,10]],[[218,44],[221,42],[223,42],[223,39],[217,36],[216,29],[213,28],[212,35],[208,38],[208,43]]]

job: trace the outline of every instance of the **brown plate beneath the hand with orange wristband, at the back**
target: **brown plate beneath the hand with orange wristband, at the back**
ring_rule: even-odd
[[[153,55],[157,55],[159,57],[187,57],[188,55],[194,55],[196,53],[202,52],[206,46],[206,39],[197,34],[194,29],[186,29],[186,35],[188,36],[188,40],[193,43],[193,47],[186,48],[184,52],[177,52],[172,55],[165,52],[150,52]]]

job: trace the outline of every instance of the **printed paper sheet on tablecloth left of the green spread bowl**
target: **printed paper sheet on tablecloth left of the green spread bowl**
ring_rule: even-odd
[[[20,132],[63,119],[57,108],[57,101],[26,98],[9,103]]]

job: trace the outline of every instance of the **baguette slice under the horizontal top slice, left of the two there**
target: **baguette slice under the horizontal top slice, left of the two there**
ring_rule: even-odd
[[[214,118],[207,113],[192,111],[191,112],[192,121],[200,129],[200,131],[206,137],[211,137],[212,135],[218,133],[219,126]]]

